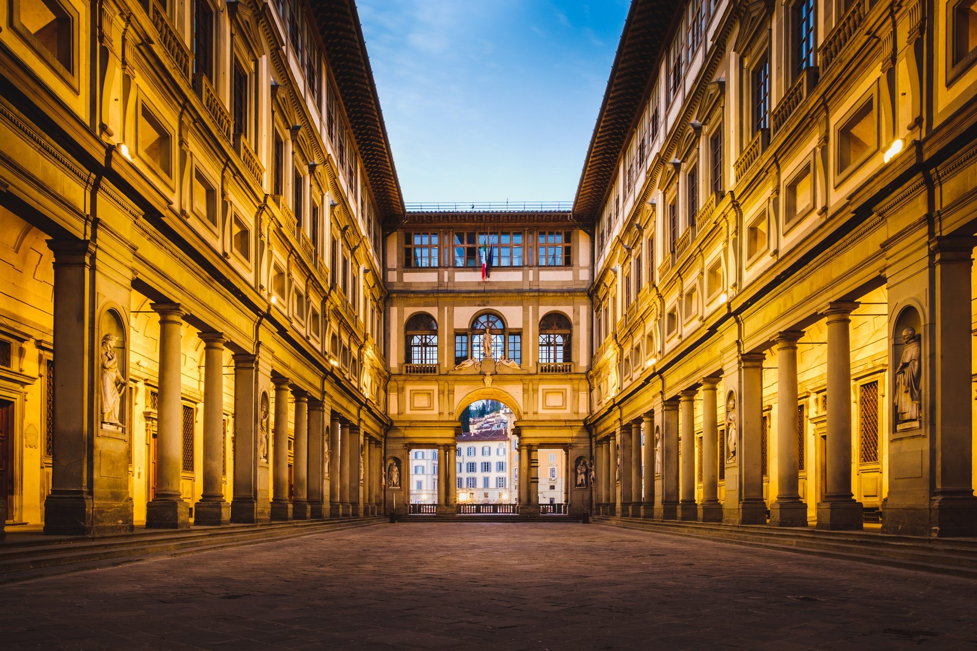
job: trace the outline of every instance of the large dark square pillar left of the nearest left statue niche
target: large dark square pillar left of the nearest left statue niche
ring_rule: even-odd
[[[88,536],[93,533],[89,443],[95,436],[96,392],[92,364],[90,240],[48,240],[55,254],[54,344],[55,390],[51,493],[44,501],[44,533]],[[130,424],[130,427],[131,424]],[[0,501],[0,540],[11,514]]]

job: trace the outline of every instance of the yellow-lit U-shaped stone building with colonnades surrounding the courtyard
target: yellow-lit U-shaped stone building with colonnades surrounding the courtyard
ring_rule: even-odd
[[[977,14],[635,0],[573,205],[405,206],[352,0],[0,16],[0,522],[518,502],[977,535]],[[489,261],[485,276],[484,261]],[[546,470],[542,470],[546,472]]]

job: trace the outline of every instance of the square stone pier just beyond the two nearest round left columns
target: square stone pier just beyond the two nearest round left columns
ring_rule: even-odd
[[[258,521],[257,358],[234,355],[234,498],[231,521]]]

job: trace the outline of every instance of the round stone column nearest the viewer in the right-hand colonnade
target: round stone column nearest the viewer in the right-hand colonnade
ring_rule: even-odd
[[[832,303],[825,312],[828,322],[827,467],[825,501],[818,504],[818,528],[832,531],[862,528],[862,504],[852,496],[852,375],[848,333],[851,312],[857,306],[857,303]]]

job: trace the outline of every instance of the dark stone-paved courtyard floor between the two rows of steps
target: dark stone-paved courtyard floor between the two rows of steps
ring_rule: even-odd
[[[0,588],[4,649],[977,648],[977,583],[578,523],[401,523]]]

